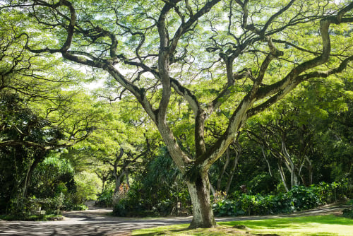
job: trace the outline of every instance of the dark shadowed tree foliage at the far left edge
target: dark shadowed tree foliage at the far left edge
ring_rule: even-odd
[[[6,211],[11,199],[22,202],[30,170],[44,160],[45,147],[61,137],[61,131],[19,95],[0,93],[0,212]]]

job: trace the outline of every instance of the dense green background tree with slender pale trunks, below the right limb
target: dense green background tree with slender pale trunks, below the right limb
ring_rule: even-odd
[[[322,169],[323,165],[327,166],[328,163],[335,165],[333,163],[336,162],[333,152],[335,148],[332,145],[337,146],[337,136],[332,133],[332,127],[335,126],[337,119],[340,119],[339,117],[350,114],[351,91],[345,81],[345,77],[335,77],[325,81],[317,79],[312,83],[303,83],[288,98],[261,116],[254,117],[247,125],[250,136],[261,146],[269,172],[280,170],[283,181],[286,179],[286,172],[289,176],[292,175],[292,183],[284,182],[289,186],[287,190],[294,183],[293,175],[297,175],[295,177],[297,184],[301,182],[306,186],[322,180],[333,182],[345,178],[341,172],[340,178],[331,179],[328,175],[332,175],[332,170]],[[348,126],[345,127],[347,131],[351,130]],[[327,138],[330,144],[326,142]],[[343,143],[347,141],[345,138]],[[330,146],[331,151],[323,145]],[[345,145],[341,147],[343,146]],[[343,153],[345,152],[340,155],[344,155]],[[270,160],[271,156],[282,163],[288,161],[285,169],[289,170],[283,171],[281,165],[277,168],[277,164],[274,165],[273,160]],[[347,165],[347,169],[343,171],[347,177],[351,164],[344,160],[342,163]],[[335,168],[340,169],[340,167]],[[331,174],[325,174],[326,177],[323,178],[323,173]]]

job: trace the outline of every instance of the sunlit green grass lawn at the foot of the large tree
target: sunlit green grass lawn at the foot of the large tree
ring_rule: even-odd
[[[353,235],[353,219],[340,216],[303,216],[293,218],[270,218],[266,220],[244,220],[220,222],[215,229],[187,230],[189,225],[168,225],[158,228],[134,230],[132,235]],[[245,225],[245,230],[234,228]]]

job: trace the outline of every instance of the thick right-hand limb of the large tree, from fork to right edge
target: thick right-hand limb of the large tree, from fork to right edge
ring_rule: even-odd
[[[352,8],[353,8],[353,3],[345,7],[344,12],[347,12]],[[341,11],[339,14],[341,14]],[[320,21],[320,28],[319,28],[321,32],[322,42],[323,42],[323,52],[321,53],[321,55],[309,61],[305,61],[302,64],[299,64],[299,66],[296,66],[294,69],[292,69],[292,71],[290,71],[287,74],[287,76],[285,76],[285,78],[282,79],[282,81],[279,81],[273,85],[268,85],[263,89],[257,90],[255,95],[251,94],[252,91],[248,93],[244,97],[244,99],[240,102],[239,106],[237,107],[237,110],[235,110],[234,113],[232,114],[232,117],[229,119],[229,124],[227,126],[227,130],[225,131],[225,133],[210,148],[210,150],[208,150],[207,156],[203,155],[202,158],[199,158],[196,161],[196,165],[201,165],[201,167],[204,168],[204,170],[208,170],[210,165],[212,165],[218,158],[220,158],[222,153],[224,153],[227,147],[230,145],[230,143],[232,143],[235,136],[237,135],[237,131],[239,131],[239,129],[241,128],[244,120],[246,120],[249,116],[263,110],[264,107],[268,107],[272,105],[274,102],[276,102],[277,100],[280,100],[281,98],[283,98],[304,79],[309,79],[309,77],[311,76],[317,76],[318,73],[308,73],[303,76],[299,76],[299,75],[305,71],[308,71],[309,69],[315,68],[316,66],[325,64],[325,62],[328,61],[330,57],[330,49],[331,49],[330,35],[328,32],[330,24],[331,23],[339,24],[347,21],[348,21],[347,18],[342,18],[342,16],[340,18],[337,16],[330,16],[328,18],[323,18]],[[348,62],[352,61],[352,59],[353,57],[349,57],[345,59],[345,61],[343,61],[342,64],[337,69],[330,71],[330,73],[337,73],[340,70],[342,71],[347,66]],[[327,74],[327,73],[323,73],[323,74]],[[273,95],[273,94],[275,95],[272,98],[270,98],[268,101],[264,102],[263,105],[259,105],[257,108],[254,107],[253,109],[251,109],[253,103],[256,100],[265,98],[266,95]]]

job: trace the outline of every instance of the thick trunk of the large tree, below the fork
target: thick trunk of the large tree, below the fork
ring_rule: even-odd
[[[208,172],[202,172],[195,179],[186,182],[193,204],[193,220],[189,228],[214,228],[216,225],[210,203],[210,182]]]

